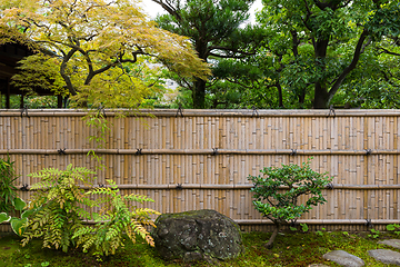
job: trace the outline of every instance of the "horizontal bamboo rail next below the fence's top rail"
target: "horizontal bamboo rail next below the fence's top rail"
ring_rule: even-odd
[[[62,151],[60,151],[60,149]],[[400,150],[291,150],[291,149],[2,149],[0,155],[302,155],[302,156],[368,156],[400,155]]]

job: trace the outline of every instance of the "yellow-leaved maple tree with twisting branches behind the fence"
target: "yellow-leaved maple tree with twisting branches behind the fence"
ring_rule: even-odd
[[[71,96],[79,107],[133,108],[156,88],[148,78],[150,58],[182,77],[206,79],[209,67],[190,40],[158,28],[139,4],[133,0],[1,3],[0,34],[10,38],[0,44],[18,39],[37,51],[22,61],[14,85],[47,86]]]

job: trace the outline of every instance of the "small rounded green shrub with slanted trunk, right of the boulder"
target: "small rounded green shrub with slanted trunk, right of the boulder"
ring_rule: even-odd
[[[273,221],[276,229],[266,244],[272,244],[282,224],[294,224],[312,206],[323,204],[327,200],[322,196],[322,189],[331,181],[327,174],[319,174],[310,168],[310,160],[298,165],[282,165],[281,168],[264,168],[260,176],[249,176],[254,182],[251,191],[254,192],[253,205],[258,211]],[[306,204],[298,204],[302,195],[310,195]]]

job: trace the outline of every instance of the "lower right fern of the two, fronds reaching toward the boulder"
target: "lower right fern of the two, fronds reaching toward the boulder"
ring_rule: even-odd
[[[142,204],[154,200],[134,194],[121,196],[113,180],[107,180],[107,182],[110,187],[96,188],[87,192],[102,196],[101,202],[106,205],[100,212],[93,212],[94,226],[84,226],[76,230],[72,238],[77,239],[77,246],[81,245],[84,253],[90,250],[99,258],[112,255],[119,247],[122,247],[123,234],[127,234],[132,243],[139,235],[150,246],[154,246],[153,239],[144,226],[156,227],[150,215],[160,212],[128,205],[129,201]]]

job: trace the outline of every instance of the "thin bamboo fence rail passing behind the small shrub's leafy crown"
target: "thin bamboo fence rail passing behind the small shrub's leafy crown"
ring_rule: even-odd
[[[80,188],[89,190],[93,189],[96,187],[109,187],[108,185],[94,185],[93,187],[88,186],[80,186]],[[17,186],[17,188],[22,188],[23,186]],[[119,185],[119,189],[148,189],[148,190],[166,190],[166,189],[211,189],[211,190],[242,190],[242,189],[251,189],[253,188],[253,185],[249,184],[240,184],[240,185],[202,185],[202,184],[178,184],[178,185]],[[296,188],[296,186],[294,186]],[[29,189],[29,188],[28,188]],[[42,188],[46,189],[46,188]],[[279,189],[288,189],[288,187],[281,186]],[[346,190],[396,190],[400,189],[400,185],[343,185],[343,184],[330,184],[327,188],[327,190],[339,190],[339,189],[346,189]],[[23,189],[24,190],[24,189]],[[33,190],[33,189],[29,189]]]

